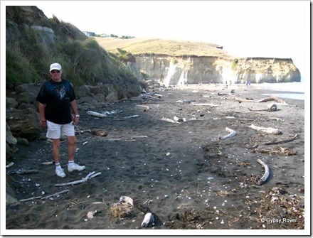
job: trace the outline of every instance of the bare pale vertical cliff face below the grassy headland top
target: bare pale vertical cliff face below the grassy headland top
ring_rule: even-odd
[[[131,68],[147,73],[164,85],[186,83],[300,82],[301,75],[291,59],[219,58],[210,56],[137,55]]]

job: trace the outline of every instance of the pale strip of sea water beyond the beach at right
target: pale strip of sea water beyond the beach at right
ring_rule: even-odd
[[[309,96],[309,87],[304,85],[304,80],[302,82],[281,82],[281,83],[261,83],[261,84],[251,84],[251,87],[260,87],[265,90],[271,91],[282,91],[282,93],[269,93],[276,97],[287,98],[287,99],[299,99],[304,100],[306,96]],[[305,94],[305,91],[307,91]],[[269,95],[264,94],[264,95]]]

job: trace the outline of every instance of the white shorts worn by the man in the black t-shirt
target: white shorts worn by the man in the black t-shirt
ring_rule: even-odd
[[[69,124],[55,124],[52,121],[47,121],[47,138],[49,139],[60,139],[60,136],[75,136],[75,129],[73,121]]]

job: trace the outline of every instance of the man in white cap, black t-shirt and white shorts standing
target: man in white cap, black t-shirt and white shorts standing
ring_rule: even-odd
[[[74,163],[76,137],[74,125],[78,124],[79,114],[75,93],[68,80],[63,80],[62,67],[58,63],[50,65],[51,80],[46,81],[38,93],[41,127],[47,127],[47,137],[53,140],[53,159],[55,173],[64,178],[66,175],[60,166],[60,136],[68,137],[68,172],[83,171],[85,166]],[[70,114],[72,109],[74,117]]]

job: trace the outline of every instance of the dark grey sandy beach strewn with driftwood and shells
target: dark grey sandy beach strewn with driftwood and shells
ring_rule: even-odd
[[[75,161],[85,171],[68,173],[66,141],[60,148],[65,178],[58,178],[48,163],[53,161],[51,141],[43,137],[18,145],[14,166],[6,172],[38,173],[7,175],[18,202],[6,206],[6,229],[134,229],[136,234],[304,229],[304,164],[309,159],[304,156],[304,100],[258,102],[275,91],[245,85],[155,92],[92,110],[106,117],[80,110]],[[269,112],[267,105],[273,103],[277,110]],[[258,161],[269,168],[261,183],[265,167]],[[99,175],[57,186],[92,172]],[[42,199],[55,193],[60,194]],[[136,207],[122,219],[112,215],[121,196],[149,207],[152,227],[141,226],[144,213]],[[19,201],[28,198],[33,199]],[[88,212],[94,212],[92,219]]]

